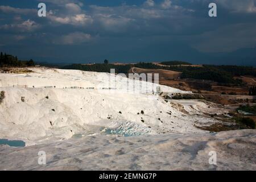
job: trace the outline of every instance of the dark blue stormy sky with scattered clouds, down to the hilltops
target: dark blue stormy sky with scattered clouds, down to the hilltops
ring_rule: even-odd
[[[0,50],[20,59],[247,65],[255,32],[256,0],[0,0]]]

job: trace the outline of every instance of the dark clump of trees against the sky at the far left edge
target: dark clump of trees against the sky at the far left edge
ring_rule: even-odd
[[[7,55],[1,52],[0,55],[0,67],[33,67],[35,66],[34,61],[31,59],[29,61],[18,60],[17,56]]]

